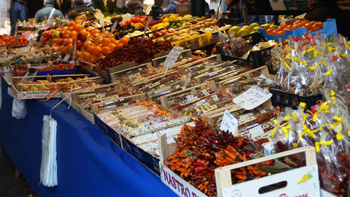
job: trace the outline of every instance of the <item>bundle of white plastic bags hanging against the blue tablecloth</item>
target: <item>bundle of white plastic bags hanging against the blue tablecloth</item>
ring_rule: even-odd
[[[57,186],[56,135],[57,121],[43,116],[40,180],[44,186]]]

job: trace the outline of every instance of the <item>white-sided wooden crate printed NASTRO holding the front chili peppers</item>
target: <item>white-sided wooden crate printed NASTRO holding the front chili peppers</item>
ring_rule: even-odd
[[[167,161],[167,158],[174,153],[176,143],[167,144],[167,136],[162,135],[158,137],[159,149],[161,154],[160,159],[160,178],[162,182],[169,186],[174,193],[179,196],[200,196],[205,197],[206,195],[199,191],[197,188],[183,180],[179,175],[176,175],[172,170],[167,168],[163,163]],[[269,175],[267,177],[261,177],[259,179],[253,179],[248,182],[239,184],[232,184],[231,181],[231,170],[236,168],[245,167],[255,163],[261,163],[263,161],[269,161],[283,156],[289,156],[297,153],[305,153],[307,165],[301,168],[288,170],[275,175]],[[283,163],[275,162],[276,166],[285,166]],[[302,184],[297,184],[300,179],[307,173],[311,173],[312,177]],[[293,149],[285,151],[272,156],[263,156],[250,161],[236,163],[228,165],[223,168],[216,168],[216,188],[218,190],[219,197],[252,197],[252,196],[302,196],[307,193],[308,196],[319,197],[320,187],[318,181],[318,166],[316,163],[316,152],[314,147],[302,147],[299,149]],[[269,191],[267,193],[258,193],[258,190],[262,186],[269,186],[270,184],[276,184],[279,182],[286,181],[288,184],[286,187]],[[253,194],[252,194],[253,193]]]

